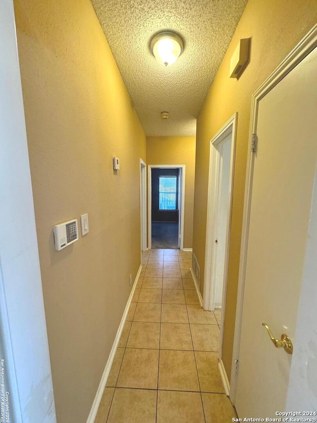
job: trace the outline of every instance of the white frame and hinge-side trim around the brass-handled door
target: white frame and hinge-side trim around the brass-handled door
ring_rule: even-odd
[[[247,160],[247,175],[244,195],[244,209],[242,221],[242,240],[239,264],[239,280],[237,293],[236,319],[233,341],[232,367],[230,378],[230,400],[235,403],[237,384],[237,364],[239,363],[240,334],[242,325],[243,296],[246,277],[246,263],[251,211],[252,182],[254,159],[256,153],[252,152],[253,134],[257,133],[259,103],[263,97],[274,88],[298,63],[300,63],[314,48],[317,47],[317,25],[297,44],[297,46],[286,56],[279,66],[264,81],[261,87],[252,96],[250,134]]]

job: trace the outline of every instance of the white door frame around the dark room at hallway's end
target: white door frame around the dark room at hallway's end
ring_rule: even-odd
[[[185,211],[185,165],[148,165],[148,248],[152,248],[152,169],[179,169],[179,213],[178,213],[178,245],[184,249],[184,211]]]

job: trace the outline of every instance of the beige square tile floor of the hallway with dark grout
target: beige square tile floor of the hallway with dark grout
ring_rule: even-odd
[[[228,423],[218,370],[221,310],[199,304],[192,255],[143,253],[142,273],[95,423]]]

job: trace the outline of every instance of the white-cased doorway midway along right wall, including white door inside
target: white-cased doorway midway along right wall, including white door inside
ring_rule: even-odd
[[[206,310],[213,310],[219,302],[222,309],[225,308],[236,125],[237,113],[211,139],[204,284]]]

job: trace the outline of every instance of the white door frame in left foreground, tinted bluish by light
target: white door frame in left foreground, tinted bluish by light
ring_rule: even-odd
[[[0,37],[1,384],[10,422],[25,422],[27,414],[28,421],[56,423],[12,0],[0,2]]]

